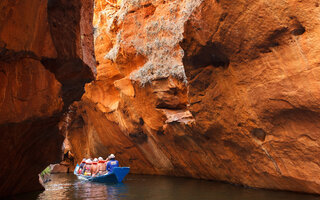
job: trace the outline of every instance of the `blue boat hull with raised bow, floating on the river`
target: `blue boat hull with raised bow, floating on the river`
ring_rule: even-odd
[[[101,176],[84,176],[82,174],[77,174],[79,168],[79,164],[77,164],[74,169],[74,175],[78,177],[78,179],[92,181],[97,183],[121,183],[124,177],[129,173],[130,167],[115,167],[112,172],[108,172],[105,175]]]

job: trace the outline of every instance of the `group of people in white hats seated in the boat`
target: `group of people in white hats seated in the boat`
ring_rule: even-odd
[[[100,176],[112,172],[115,167],[119,167],[119,161],[114,154],[110,154],[106,160],[102,157],[93,160],[84,158],[77,172],[85,176]]]

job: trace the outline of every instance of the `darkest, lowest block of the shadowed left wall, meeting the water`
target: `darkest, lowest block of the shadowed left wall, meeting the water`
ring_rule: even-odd
[[[0,152],[10,153],[10,158],[14,159],[8,159],[8,154],[0,154],[0,158],[8,164],[1,167],[2,173],[4,172],[1,177],[5,180],[4,184],[0,184],[1,195],[40,189],[38,174],[48,164],[61,159],[64,137],[58,134],[59,120],[60,115],[55,115],[20,123],[0,124],[0,142],[9,144],[1,145]],[[29,166],[30,163],[33,165]]]

